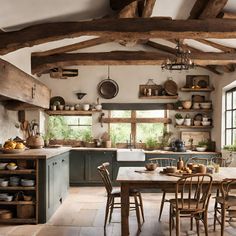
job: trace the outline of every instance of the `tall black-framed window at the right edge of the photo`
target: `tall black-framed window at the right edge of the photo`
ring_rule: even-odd
[[[225,145],[236,144],[236,88],[226,91]]]

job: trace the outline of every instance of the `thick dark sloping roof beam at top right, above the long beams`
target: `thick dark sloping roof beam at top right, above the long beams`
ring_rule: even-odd
[[[216,18],[222,11],[228,0],[208,0],[205,8],[201,12],[199,19]]]

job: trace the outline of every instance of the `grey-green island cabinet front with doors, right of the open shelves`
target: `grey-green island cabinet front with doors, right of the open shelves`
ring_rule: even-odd
[[[60,206],[69,188],[69,153],[46,161],[46,219]]]

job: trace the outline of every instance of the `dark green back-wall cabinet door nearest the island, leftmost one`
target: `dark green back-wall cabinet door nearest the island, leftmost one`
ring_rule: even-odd
[[[70,152],[70,184],[76,185],[85,181],[85,156],[87,151]]]

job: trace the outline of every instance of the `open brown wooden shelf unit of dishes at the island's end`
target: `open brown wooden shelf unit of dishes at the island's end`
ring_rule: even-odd
[[[7,186],[0,187],[1,194],[12,196],[11,201],[0,200],[0,209],[12,213],[10,219],[0,219],[0,223],[38,223],[38,160],[30,157],[7,155],[0,159],[1,163],[15,163],[15,170],[0,170],[0,178],[8,181]],[[18,179],[16,184],[12,178]],[[33,185],[25,186],[22,179],[33,180]]]

